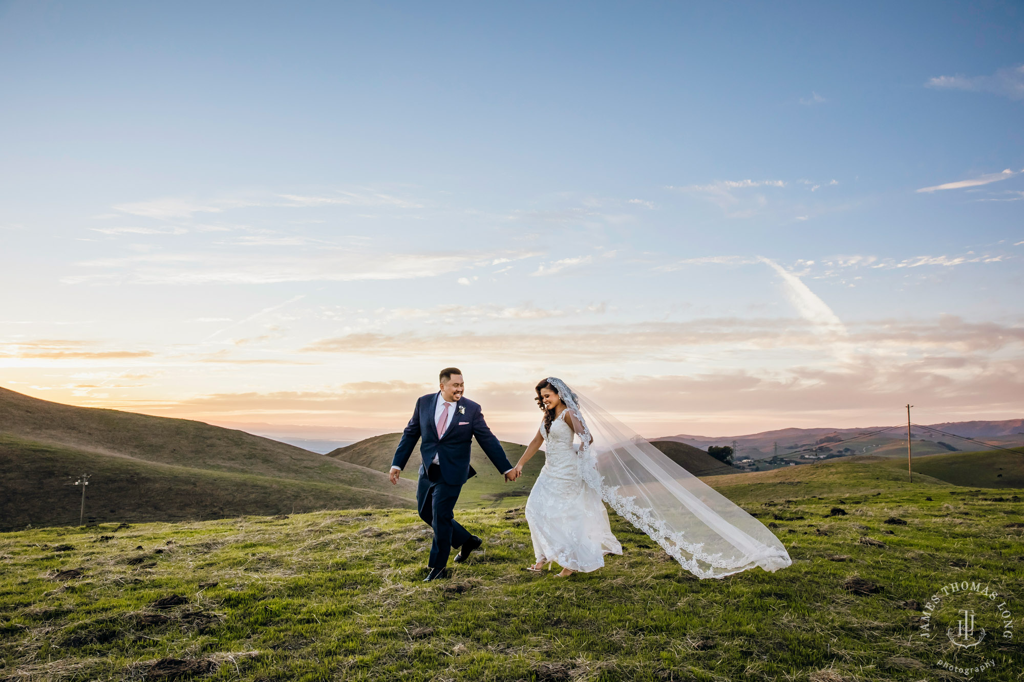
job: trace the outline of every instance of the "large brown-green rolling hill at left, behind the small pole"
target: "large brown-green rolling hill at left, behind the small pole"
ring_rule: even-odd
[[[415,487],[244,431],[77,408],[0,388],[0,527],[296,509],[410,507]]]

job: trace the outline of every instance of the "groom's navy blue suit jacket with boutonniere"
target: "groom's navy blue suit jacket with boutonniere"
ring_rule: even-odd
[[[413,417],[401,434],[391,466],[404,469],[416,441],[422,438],[420,475],[427,475],[427,468],[433,463],[436,454],[444,482],[449,485],[462,485],[470,476],[476,475],[476,471],[469,464],[469,451],[475,437],[483,454],[499,472],[512,468],[498,437],[490,432],[487,423],[483,421],[480,406],[468,398],[459,398],[447,430],[438,434],[437,423],[434,421],[437,398],[437,393],[431,393],[416,401]]]

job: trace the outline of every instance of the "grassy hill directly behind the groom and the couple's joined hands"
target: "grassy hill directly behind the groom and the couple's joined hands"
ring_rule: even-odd
[[[346,447],[339,447],[328,453],[328,456],[377,471],[388,471],[391,468],[391,459],[394,457],[394,451],[400,439],[400,433],[385,433],[360,440]],[[514,442],[502,440],[501,443],[506,457],[513,465],[519,461],[519,457],[526,450],[525,445]],[[417,444],[409,464],[406,466],[406,471],[402,473],[403,480],[416,480],[417,470],[420,466],[419,458],[420,446]],[[498,472],[475,440],[470,449],[469,458],[477,475],[466,481],[463,486],[462,494],[459,496],[460,507],[482,507],[499,502],[515,504],[517,501],[521,504],[525,502],[529,489],[534,486],[534,481],[541,473],[541,467],[544,466],[544,453],[541,452],[530,459],[518,480],[509,482]]]

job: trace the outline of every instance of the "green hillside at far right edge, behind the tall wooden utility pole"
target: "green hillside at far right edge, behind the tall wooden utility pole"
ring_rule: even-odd
[[[912,458],[911,471],[956,485],[976,487],[1024,487],[1024,447],[1016,453],[990,450],[980,453],[949,453]],[[902,460],[880,463],[906,476],[906,455]]]

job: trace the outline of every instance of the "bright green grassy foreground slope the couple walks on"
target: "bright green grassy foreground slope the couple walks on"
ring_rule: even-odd
[[[4,534],[0,679],[964,679],[937,668],[940,655],[991,657],[979,679],[1018,679],[1020,633],[1004,641],[983,615],[993,636],[978,653],[913,635],[921,605],[952,581],[984,582],[1021,607],[1021,505],[924,477],[868,479],[871,466],[733,476],[794,564],[720,581],[685,572],[615,515],[625,554],[604,568],[528,572],[519,507],[463,510],[482,551],[431,584],[429,530],[411,511]],[[842,496],[819,495],[846,476]]]

